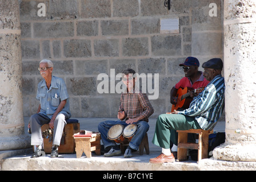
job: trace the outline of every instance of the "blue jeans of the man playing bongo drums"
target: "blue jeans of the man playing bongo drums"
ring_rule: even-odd
[[[120,121],[120,120],[118,120],[118,121],[110,121],[109,120],[109,121],[103,121],[103,122],[99,123],[98,130],[101,133],[101,140],[102,140],[102,143],[105,148],[109,147],[109,146],[117,145],[117,143],[115,143],[114,140],[110,140],[107,138],[107,132],[109,131],[110,127],[117,125],[117,124],[121,124],[124,127],[127,126],[125,121]],[[137,125],[137,131],[136,131],[135,135],[133,136],[133,138],[131,139],[129,146],[131,148],[133,148],[134,150],[138,150],[139,144],[141,144],[141,140],[143,139],[143,137],[149,130],[149,124],[146,121],[138,121],[133,124]]]

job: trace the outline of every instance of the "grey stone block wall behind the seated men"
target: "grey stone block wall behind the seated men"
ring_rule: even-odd
[[[54,63],[53,75],[67,85],[73,117],[116,117],[118,93],[97,92],[100,73],[125,68],[159,74],[159,97],[151,117],[170,111],[170,89],[184,76],[187,56],[200,63],[223,57],[222,1],[21,0],[23,114],[37,111],[39,61]],[[210,3],[217,16],[209,16]],[[46,6],[38,16],[39,3]],[[178,34],[161,34],[161,19],[178,18]],[[200,67],[199,70],[203,71]]]

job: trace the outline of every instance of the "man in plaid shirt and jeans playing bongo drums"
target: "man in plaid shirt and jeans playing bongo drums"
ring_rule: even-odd
[[[130,124],[137,125],[137,131],[131,138],[127,147],[125,158],[131,158],[131,151],[136,151],[139,148],[141,140],[149,130],[149,117],[154,113],[154,109],[149,102],[149,98],[145,93],[142,93],[136,86],[137,77],[133,69],[123,71],[123,83],[127,90],[121,94],[120,106],[118,111],[118,121],[103,121],[99,123],[98,130],[101,133],[101,139],[106,151],[104,156],[115,156],[121,154],[121,150],[114,140],[107,137],[110,127],[121,124],[124,127]]]

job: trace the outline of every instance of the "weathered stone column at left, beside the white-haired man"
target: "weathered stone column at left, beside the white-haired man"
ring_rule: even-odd
[[[19,3],[0,0],[0,151],[29,146],[22,111]]]

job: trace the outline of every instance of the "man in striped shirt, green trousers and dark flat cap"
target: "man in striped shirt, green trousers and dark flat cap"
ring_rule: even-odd
[[[202,93],[193,98],[188,109],[161,114],[157,119],[152,142],[162,147],[162,153],[150,163],[174,162],[170,150],[170,130],[212,130],[224,109],[225,83],[221,76],[223,62],[219,58],[203,63],[203,76],[210,81]]]

